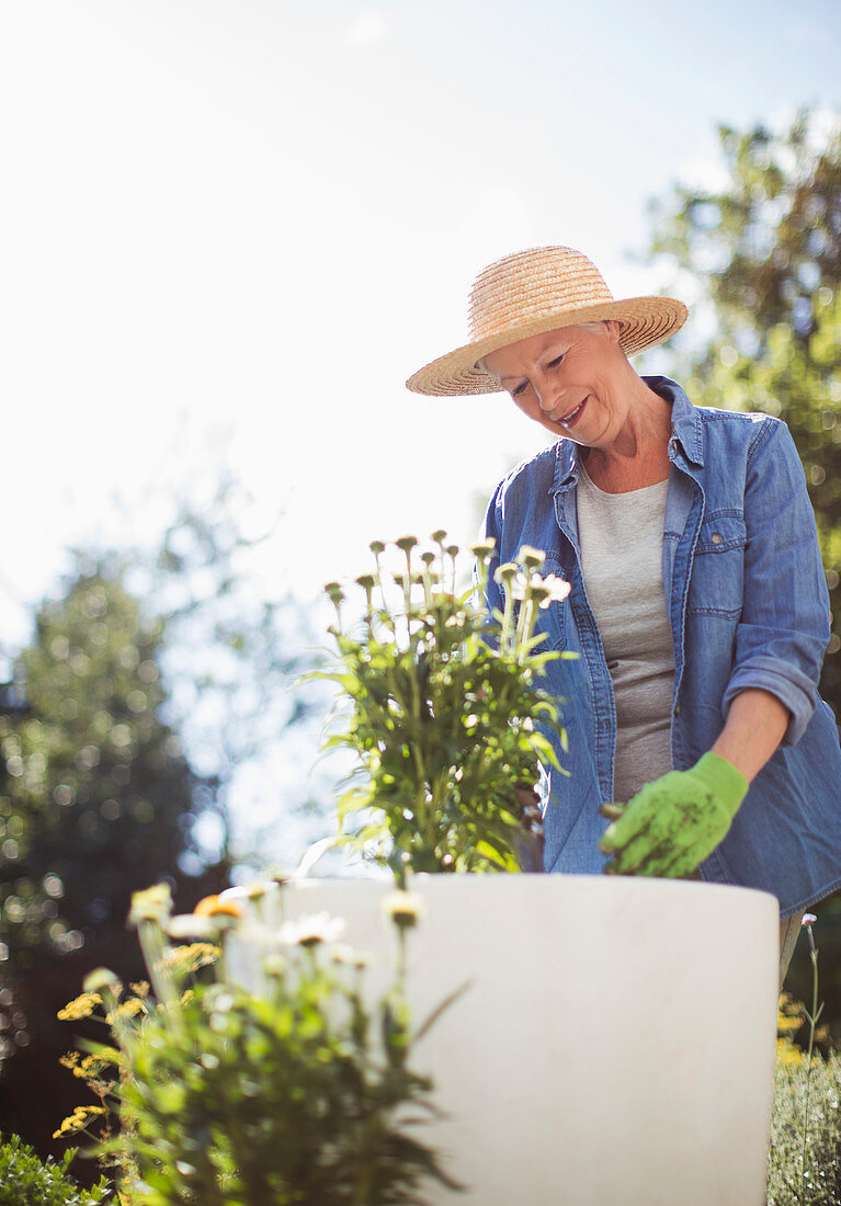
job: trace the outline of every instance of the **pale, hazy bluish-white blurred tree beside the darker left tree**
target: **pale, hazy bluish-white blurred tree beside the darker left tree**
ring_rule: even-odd
[[[302,848],[306,843],[288,833],[290,816],[309,812],[316,824],[323,816],[303,773],[293,789],[275,784],[280,766],[300,763],[302,754],[306,762],[315,756],[316,718],[325,712],[326,692],[298,681],[317,661],[308,609],[291,595],[267,598],[253,573],[268,533],[244,534],[249,504],[245,490],[226,470],[204,490],[193,481],[176,491],[157,548],[117,556],[116,563],[140,597],[167,616],[165,714],[202,778],[204,832],[212,814],[220,856],[255,865],[273,856],[297,861],[296,841]],[[232,832],[232,792],[245,768],[252,778],[259,768],[261,797],[276,800],[273,836],[263,838],[241,824]],[[286,842],[278,839],[284,829]]]

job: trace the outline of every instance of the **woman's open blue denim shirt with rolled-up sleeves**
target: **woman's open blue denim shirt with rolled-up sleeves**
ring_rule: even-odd
[[[662,580],[674,643],[672,765],[685,771],[718,738],[740,691],[761,687],[790,713],[781,747],[751,784],[730,832],[701,865],[714,883],[772,892],[781,915],[841,888],[841,749],[817,691],[830,636],[814,515],[783,422],[693,405],[667,377],[647,385],[672,404]],[[541,613],[548,645],[577,655],[548,663],[568,750],[542,768],[547,871],[597,873],[606,856],[600,813],[613,798],[617,712],[598,627],[582,576],[576,487],[578,447],[560,439],[514,469],[487,508],[492,572],[521,545],[545,551],[544,573],[571,582]],[[633,580],[617,581],[633,591]],[[551,734],[549,734],[551,736]]]

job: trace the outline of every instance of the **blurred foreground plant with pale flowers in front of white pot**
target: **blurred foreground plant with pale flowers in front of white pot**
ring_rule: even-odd
[[[122,1132],[99,1151],[117,1158],[125,1200],[386,1206],[421,1202],[428,1178],[459,1188],[414,1137],[436,1111],[430,1079],[410,1067],[416,1036],[403,991],[405,930],[416,915],[410,894],[390,907],[398,973],[373,1007],[366,960],[334,946],[337,919],[321,917],[287,921],[280,933],[257,917],[244,921],[250,946],[263,952],[259,994],[229,982],[224,959],[212,983],[193,980],[185,991],[195,949],[181,958],[168,930],[218,936],[235,929],[238,911],[211,901],[202,917],[170,920],[165,892],[139,894],[133,918],[157,1005],[144,999],[141,1009],[121,1012],[121,987],[103,971],[74,1002],[100,1007],[119,1044],[90,1052],[119,1071],[111,1096]]]

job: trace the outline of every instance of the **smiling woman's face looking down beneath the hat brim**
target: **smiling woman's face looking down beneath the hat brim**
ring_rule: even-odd
[[[530,335],[485,356],[483,364],[520,410],[553,435],[606,447],[627,418],[629,365],[618,322]]]

